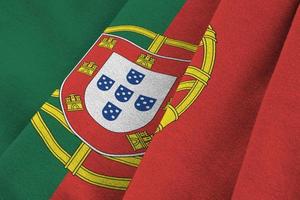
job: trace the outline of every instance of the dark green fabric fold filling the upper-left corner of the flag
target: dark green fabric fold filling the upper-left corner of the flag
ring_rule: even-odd
[[[0,155],[126,1],[0,1]]]

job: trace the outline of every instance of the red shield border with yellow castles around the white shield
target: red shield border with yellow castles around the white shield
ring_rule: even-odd
[[[112,49],[98,46],[98,44],[104,38],[112,38],[116,40],[116,45]],[[152,121],[140,129],[127,133],[116,134],[103,128],[89,115],[85,108],[84,93],[86,87],[113,52],[124,56],[134,63],[141,54],[151,55],[152,58],[155,59],[151,71],[177,77],[175,83],[173,84],[172,88],[170,89],[168,95],[166,96],[164,102],[162,103]],[[86,74],[78,72],[78,69],[84,62],[94,62],[98,66],[92,76],[88,76]],[[141,155],[145,152],[145,149],[135,151],[126,136],[128,134],[134,134],[143,131],[146,131],[149,135],[155,133],[155,130],[164,114],[164,108],[170,101],[170,98],[174,95],[179,84],[179,78],[184,74],[188,63],[188,60],[180,60],[152,54],[124,38],[110,34],[102,34],[91,47],[91,49],[87,52],[87,54],[66,77],[61,86],[60,101],[66,121],[68,122],[72,131],[81,140],[83,140],[92,149],[101,154],[108,156]],[[81,97],[83,110],[75,112],[70,112],[67,110],[65,99],[70,94],[76,94]]]

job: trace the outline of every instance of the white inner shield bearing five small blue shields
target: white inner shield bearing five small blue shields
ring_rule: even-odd
[[[86,88],[86,108],[107,130],[133,131],[154,118],[175,80],[113,53]]]

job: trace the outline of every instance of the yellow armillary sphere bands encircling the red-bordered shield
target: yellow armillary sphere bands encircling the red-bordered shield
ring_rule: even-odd
[[[193,102],[197,99],[201,91],[206,86],[215,62],[216,34],[213,31],[212,27],[209,26],[204,34],[200,45],[195,45],[184,41],[167,38],[163,35],[154,33],[145,28],[132,25],[109,27],[104,32],[113,33],[120,31],[134,32],[152,39],[152,43],[148,47],[148,51],[154,54],[156,54],[159,51],[162,45],[170,45],[191,52],[196,52],[199,46],[203,46],[202,65],[188,66],[184,76],[185,78],[187,77],[187,79],[180,82],[176,91],[188,91],[187,94],[177,105],[173,104],[173,102],[171,101],[166,106],[166,112],[157,128],[158,132],[164,127],[166,127],[168,124],[176,121],[179,118],[179,116],[193,104]],[[110,45],[111,42],[113,41],[107,41],[107,44]],[[53,98],[58,99],[60,96],[59,89],[55,90],[51,96]],[[65,168],[72,172],[74,176],[77,176],[83,181],[86,181],[90,184],[110,189],[126,190],[131,180],[130,178],[108,176],[86,168],[86,166],[84,165],[84,160],[92,151],[92,149],[86,143],[81,142],[76,151],[72,153],[64,149],[63,145],[60,144],[64,144],[64,141],[58,141],[56,139],[56,136],[59,135],[60,132],[51,131],[50,127],[48,127],[47,125],[47,122],[50,119],[45,114],[48,114],[49,116],[53,117],[69,132],[73,132],[71,131],[62,110],[50,102],[46,102],[41,107],[41,110],[38,111],[31,119],[33,127],[36,129],[37,133],[40,135],[43,142],[48,147],[49,151],[64,165]],[[149,137],[152,138],[152,136]],[[141,156],[104,157],[130,167],[137,167],[142,158]]]

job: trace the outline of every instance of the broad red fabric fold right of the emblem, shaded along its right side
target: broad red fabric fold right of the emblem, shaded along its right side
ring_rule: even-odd
[[[210,23],[217,54],[208,85],[192,109],[156,135],[124,199],[231,198],[297,6],[221,1]]]

